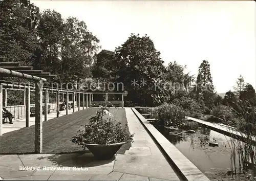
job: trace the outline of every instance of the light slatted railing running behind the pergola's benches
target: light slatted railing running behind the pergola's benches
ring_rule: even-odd
[[[73,101],[69,101],[69,103],[72,103],[72,102]],[[44,106],[45,104],[42,104],[42,105]],[[56,102],[50,102],[47,105],[51,106],[50,112],[56,112],[57,110]],[[77,107],[77,101],[75,101],[75,106]],[[31,107],[35,107],[35,104],[30,104],[30,108]],[[14,116],[13,120],[26,118],[26,105],[7,106],[6,109],[9,110],[11,114]]]

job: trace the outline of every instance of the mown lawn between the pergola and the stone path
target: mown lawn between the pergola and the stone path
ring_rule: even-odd
[[[96,115],[97,108],[88,108],[71,115],[54,118],[42,124],[42,151],[43,153],[71,153],[81,151],[81,148],[72,143],[71,139],[81,125],[88,124],[91,116]],[[127,124],[125,110],[110,108],[114,119]],[[25,127],[8,132],[0,137],[0,154],[3,153],[33,153],[35,141],[35,127]],[[131,144],[125,144],[118,151],[124,154]]]

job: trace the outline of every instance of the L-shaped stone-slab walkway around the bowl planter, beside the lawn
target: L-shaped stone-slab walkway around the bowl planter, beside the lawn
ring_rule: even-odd
[[[135,133],[125,154],[110,161],[95,161],[91,153],[0,155],[0,176],[5,180],[179,180],[131,108],[125,111],[130,132]]]

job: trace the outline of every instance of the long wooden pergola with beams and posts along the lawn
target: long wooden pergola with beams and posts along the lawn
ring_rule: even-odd
[[[84,95],[87,99],[88,108],[88,95],[90,96],[89,104],[91,104],[92,93],[73,91],[68,89],[59,89],[43,86],[43,82],[46,82],[46,78],[54,78],[56,75],[51,75],[50,73],[44,73],[41,70],[33,70],[32,66],[19,66],[17,62],[0,62],[0,76],[1,77],[17,77],[26,80],[33,81],[35,86],[30,85],[15,85],[11,82],[1,81],[0,82],[0,136],[3,134],[3,89],[13,89],[13,90],[24,90],[26,93],[26,127],[29,127],[30,119],[30,92],[34,89],[35,92],[35,153],[42,153],[42,93],[45,96],[45,121],[47,121],[47,109],[48,109],[48,90],[56,92],[57,94],[57,110],[56,114],[59,117],[59,95],[60,93],[67,95],[67,105],[69,94],[73,94],[73,104],[75,101],[75,94],[78,95],[78,111],[80,110],[80,94],[83,95],[83,109],[84,109]],[[6,99],[6,91],[5,91]],[[6,105],[6,103],[5,103]],[[73,112],[75,111],[75,106],[73,106]],[[66,114],[68,114],[68,106],[66,106]]]

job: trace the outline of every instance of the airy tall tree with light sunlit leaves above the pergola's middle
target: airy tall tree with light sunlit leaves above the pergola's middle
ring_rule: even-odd
[[[93,57],[99,49],[99,39],[84,21],[75,17],[65,20],[61,43],[59,76],[61,81],[77,81],[91,77]]]

